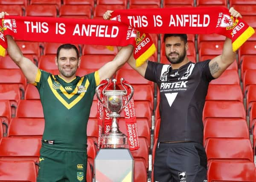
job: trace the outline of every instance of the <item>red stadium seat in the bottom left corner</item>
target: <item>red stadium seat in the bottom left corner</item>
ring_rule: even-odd
[[[36,182],[33,161],[0,161],[0,182]]]

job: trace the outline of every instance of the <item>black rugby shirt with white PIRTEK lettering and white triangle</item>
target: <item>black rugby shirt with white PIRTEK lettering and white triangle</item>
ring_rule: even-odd
[[[203,143],[202,112],[209,82],[209,61],[189,62],[179,69],[148,61],[145,78],[160,90],[159,142]]]

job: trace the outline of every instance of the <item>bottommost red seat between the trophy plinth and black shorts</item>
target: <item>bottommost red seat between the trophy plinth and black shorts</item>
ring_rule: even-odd
[[[146,182],[147,169],[145,168],[143,161],[134,160],[134,182]]]

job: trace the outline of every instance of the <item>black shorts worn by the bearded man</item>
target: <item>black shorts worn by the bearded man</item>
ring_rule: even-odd
[[[207,156],[196,142],[158,143],[155,182],[207,182]]]

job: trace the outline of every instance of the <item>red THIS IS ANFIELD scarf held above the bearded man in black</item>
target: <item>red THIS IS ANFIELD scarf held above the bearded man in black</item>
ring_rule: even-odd
[[[232,39],[236,51],[254,34],[240,17],[224,7],[181,7],[115,10],[112,17],[147,33],[220,34]]]

